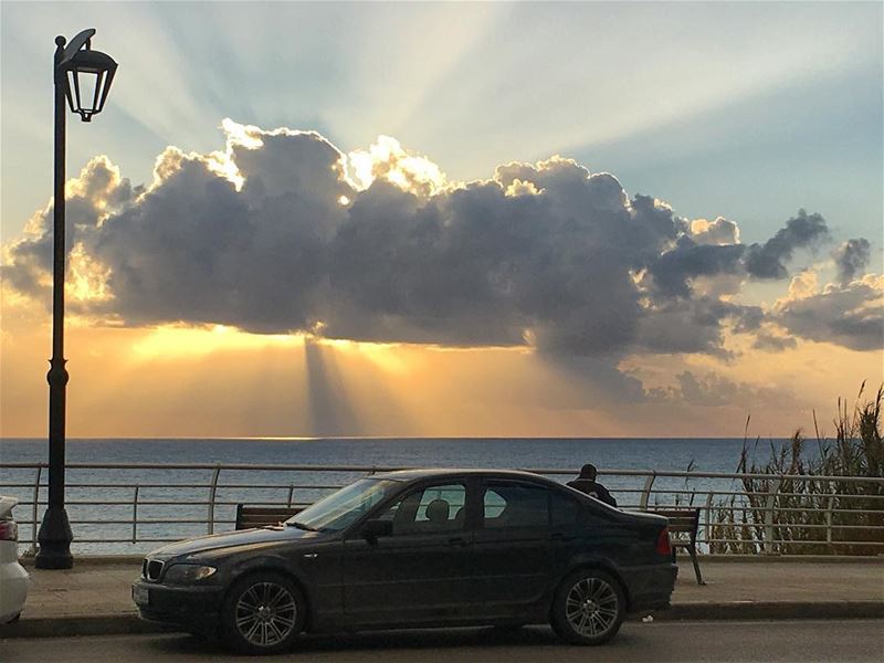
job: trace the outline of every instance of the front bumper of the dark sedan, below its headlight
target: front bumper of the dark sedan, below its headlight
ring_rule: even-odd
[[[138,580],[131,586],[131,597],[141,619],[212,634],[218,628],[224,588],[172,587]]]

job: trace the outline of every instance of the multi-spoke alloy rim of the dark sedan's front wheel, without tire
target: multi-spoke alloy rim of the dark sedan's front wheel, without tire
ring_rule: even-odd
[[[256,646],[273,646],[292,634],[297,619],[295,597],[276,582],[256,582],[240,594],[236,630]]]

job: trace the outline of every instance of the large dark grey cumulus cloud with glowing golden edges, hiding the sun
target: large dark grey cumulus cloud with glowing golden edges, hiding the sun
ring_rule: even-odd
[[[785,276],[796,249],[828,235],[800,211],[746,246],[733,221],[688,221],[561,157],[452,182],[389,137],[344,154],[314,131],[223,128],[224,150],[170,147],[147,187],[104,157],[70,183],[72,308],[126,325],[527,345],[607,366],[634,350],[726,356],[726,329],[759,334],[767,316],[730,295]],[[2,266],[44,299],[51,211]],[[778,320],[803,329],[800,311]],[[854,347],[850,334],[830,338]]]

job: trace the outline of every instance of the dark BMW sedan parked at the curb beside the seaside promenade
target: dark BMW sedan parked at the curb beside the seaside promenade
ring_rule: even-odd
[[[599,644],[669,606],[666,519],[526,472],[412,470],[357,481],[275,527],[150,552],[141,617],[249,653],[303,631],[551,623]]]

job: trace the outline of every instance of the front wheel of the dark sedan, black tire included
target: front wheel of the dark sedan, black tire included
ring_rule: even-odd
[[[298,587],[276,572],[238,580],[221,607],[221,636],[244,654],[277,654],[304,629],[307,606]]]

